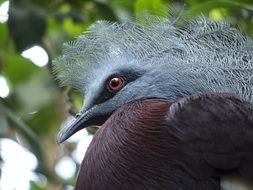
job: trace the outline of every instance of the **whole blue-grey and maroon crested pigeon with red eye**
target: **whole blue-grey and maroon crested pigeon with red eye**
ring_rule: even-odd
[[[84,94],[62,143],[99,126],[77,190],[220,189],[252,180],[253,44],[205,17],[97,21],[66,43],[53,69]]]

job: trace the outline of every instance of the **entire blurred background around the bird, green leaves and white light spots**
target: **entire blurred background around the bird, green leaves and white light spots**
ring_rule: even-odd
[[[252,0],[0,0],[0,189],[70,190],[94,131],[55,137],[83,104],[59,87],[52,59],[96,20],[122,21],[184,6],[253,36]],[[166,16],[166,15],[164,15]]]

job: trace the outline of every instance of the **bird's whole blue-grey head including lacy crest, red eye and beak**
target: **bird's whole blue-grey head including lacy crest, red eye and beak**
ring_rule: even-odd
[[[229,92],[253,101],[253,44],[245,34],[205,18],[144,23],[99,21],[64,45],[54,70],[63,85],[83,92],[85,104],[58,142],[143,97]]]

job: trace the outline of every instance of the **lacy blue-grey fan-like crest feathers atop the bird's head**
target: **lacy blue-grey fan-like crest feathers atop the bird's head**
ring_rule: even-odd
[[[58,79],[81,89],[90,69],[117,57],[142,67],[168,64],[170,69],[201,76],[206,85],[236,87],[239,95],[253,100],[253,44],[244,33],[204,17],[147,16],[144,23],[96,22],[76,41],[64,44],[62,55],[53,62]]]

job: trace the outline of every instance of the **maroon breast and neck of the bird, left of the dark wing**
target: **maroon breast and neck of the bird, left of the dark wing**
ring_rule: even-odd
[[[82,162],[77,190],[183,190],[194,184],[174,167],[184,155],[163,123],[170,103],[141,106],[146,108],[120,108],[97,131]]]

